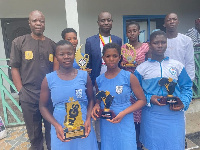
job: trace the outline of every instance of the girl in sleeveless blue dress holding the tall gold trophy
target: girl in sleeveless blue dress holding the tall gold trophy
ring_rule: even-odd
[[[75,49],[66,40],[61,40],[56,46],[56,58],[59,69],[46,75],[42,82],[40,94],[40,111],[42,116],[52,124],[52,150],[97,150],[94,129],[91,126],[91,111],[93,107],[92,81],[87,71],[73,68]],[[51,93],[51,94],[50,94]],[[51,96],[54,113],[47,109],[48,97]],[[65,103],[73,97],[81,106],[82,119],[86,138],[64,140]]]

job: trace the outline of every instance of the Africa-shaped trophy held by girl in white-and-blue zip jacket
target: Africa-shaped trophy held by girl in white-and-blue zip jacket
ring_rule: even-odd
[[[163,97],[160,99],[160,103],[162,104],[177,104],[177,97],[174,97],[172,94],[175,91],[175,87],[176,87],[175,82],[173,82],[172,78],[162,78],[159,81],[159,85],[160,86],[165,86],[166,90],[167,90],[167,97]]]

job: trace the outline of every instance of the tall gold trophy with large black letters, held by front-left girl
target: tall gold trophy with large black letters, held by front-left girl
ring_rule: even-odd
[[[65,103],[67,115],[64,121],[65,140],[85,137],[84,121],[82,120],[81,105],[73,97]]]

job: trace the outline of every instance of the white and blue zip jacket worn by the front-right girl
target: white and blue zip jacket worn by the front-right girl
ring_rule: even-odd
[[[184,110],[188,109],[192,99],[192,81],[179,61],[168,57],[161,62],[148,59],[136,68],[134,75],[144,90],[147,106],[151,107],[152,105],[150,103],[152,95],[168,95],[167,89],[160,86],[159,81],[161,78],[172,78],[177,83],[173,96],[180,98],[184,104]]]

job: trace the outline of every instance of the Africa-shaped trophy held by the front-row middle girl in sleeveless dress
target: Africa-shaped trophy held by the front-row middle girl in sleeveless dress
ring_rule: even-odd
[[[115,117],[115,114],[112,110],[110,110],[110,106],[112,104],[112,101],[114,99],[113,96],[110,95],[109,91],[99,91],[96,94],[96,99],[102,100],[104,103],[104,109],[101,109],[98,113],[98,115],[102,119],[112,119]]]

